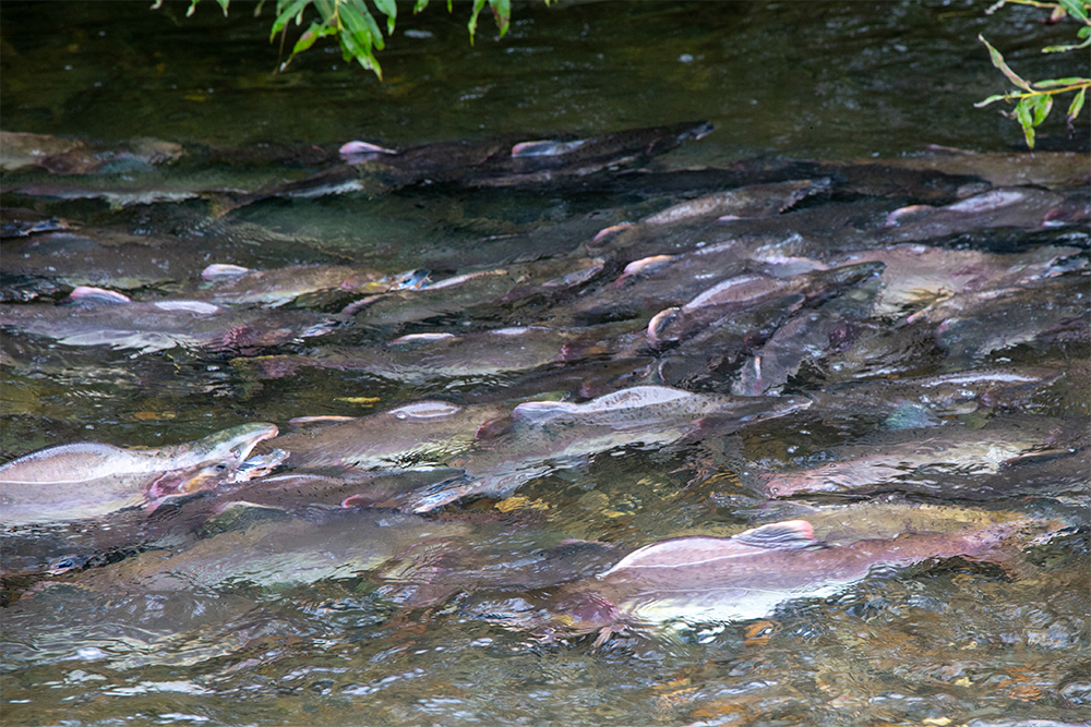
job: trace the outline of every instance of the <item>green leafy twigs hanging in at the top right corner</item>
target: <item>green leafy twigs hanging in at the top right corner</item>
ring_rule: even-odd
[[[1082,27],[1077,31],[1076,37],[1081,38],[1083,43],[1066,46],[1047,46],[1042,49],[1043,53],[1065,52],[1091,46],[1091,20],[1088,19],[1088,13],[1091,11],[1091,0],[1058,0],[1057,2],[1039,2],[1038,0],[999,0],[999,2],[985,12],[992,14],[1005,3],[1050,9],[1050,22],[1052,23],[1059,22],[1064,20],[1065,16],[1069,16],[1072,20],[1082,23]],[[1087,90],[1091,87],[1091,78],[1068,76],[1065,78],[1046,78],[1044,81],[1034,82],[1027,81],[1008,66],[1007,62],[1004,60],[1004,56],[1000,54],[1000,51],[993,48],[993,46],[991,46],[985,38],[979,35],[978,39],[985,44],[985,48],[988,49],[988,56],[993,61],[993,65],[995,65],[999,72],[1004,74],[1004,77],[1016,86],[1016,90],[990,96],[985,100],[974,104],[975,107],[982,108],[995,101],[1002,100],[1009,104],[1014,101],[1016,105],[1015,110],[1006,116],[1016,119],[1019,122],[1019,125],[1021,125],[1023,130],[1023,137],[1027,140],[1027,146],[1033,149],[1034,129],[1041,125],[1042,122],[1045,121],[1046,117],[1050,116],[1050,111],[1053,109],[1054,97],[1059,94],[1075,93],[1066,114],[1068,128],[1072,129],[1072,123],[1076,121],[1076,117],[1079,116],[1080,110],[1083,108],[1083,100],[1087,98]]]

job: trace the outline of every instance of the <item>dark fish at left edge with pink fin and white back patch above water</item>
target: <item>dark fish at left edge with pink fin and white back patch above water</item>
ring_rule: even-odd
[[[64,346],[108,346],[139,353],[175,347],[254,353],[301,338],[322,336],[345,323],[301,311],[244,311],[204,301],[147,303],[113,291],[77,287],[67,305],[0,305],[0,326]]]

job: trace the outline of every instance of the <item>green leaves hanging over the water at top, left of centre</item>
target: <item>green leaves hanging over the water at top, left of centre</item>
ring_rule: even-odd
[[[191,0],[190,9],[185,13],[187,16],[193,14],[193,10],[200,1]],[[416,0],[412,9],[413,14],[424,10],[428,7],[428,1]],[[231,0],[216,0],[216,2],[227,15]],[[369,0],[276,0],[276,20],[273,21],[269,41],[276,38],[279,33],[281,47],[287,38],[289,25],[292,23],[296,26],[301,25],[304,14],[317,14],[317,17],[311,20],[310,26],[296,40],[296,45],[291,48],[291,54],[288,56],[288,60],[280,64],[279,70],[285,70],[296,56],[313,46],[319,39],[336,36],[341,47],[341,56],[346,61],[355,59],[363,68],[373,71],[381,80],[383,69],[375,59],[375,51],[385,48],[386,43],[383,40],[379,23],[375,21],[375,14],[386,17],[386,36],[389,37],[394,35],[398,8],[395,0],[370,0],[375,11],[373,13],[368,7],[368,2]],[[546,4],[549,2],[550,0],[546,0]],[[154,10],[161,4],[163,0],[157,0],[152,8]],[[467,23],[471,44],[473,36],[477,35],[478,16],[487,4],[492,11],[501,37],[504,37],[511,25],[511,0],[475,0],[472,13],[469,23]],[[257,3],[257,8],[254,10],[255,16],[261,13],[264,5],[265,0]],[[309,9],[313,12],[308,12]],[[447,0],[447,12],[452,12],[452,0]]]

